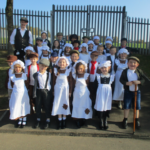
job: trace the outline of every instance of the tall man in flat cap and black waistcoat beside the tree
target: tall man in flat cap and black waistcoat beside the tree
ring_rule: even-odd
[[[24,48],[32,45],[31,31],[27,30],[28,20],[25,17],[20,19],[20,27],[13,30],[10,36],[10,44],[15,48],[14,55],[24,60]]]

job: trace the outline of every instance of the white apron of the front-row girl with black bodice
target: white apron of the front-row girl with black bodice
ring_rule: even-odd
[[[112,104],[112,89],[111,84],[114,81],[114,75],[110,75],[109,84],[101,84],[101,77],[97,74],[98,89],[96,93],[96,101],[94,109],[97,111],[111,110]]]

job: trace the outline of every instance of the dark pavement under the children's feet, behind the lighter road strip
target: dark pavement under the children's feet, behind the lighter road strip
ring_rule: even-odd
[[[14,121],[9,120],[9,111],[0,121],[0,133],[25,133],[35,135],[61,135],[61,136],[83,136],[83,137],[118,137],[118,138],[138,138],[150,139],[150,82],[146,80],[142,88],[142,109],[140,111],[141,130],[136,130],[133,136],[133,111],[130,112],[128,128],[122,128],[123,110],[119,110],[113,104],[110,118],[108,118],[109,129],[99,130],[99,119],[88,120],[88,128],[77,129],[71,117],[67,119],[67,128],[56,130],[57,117],[51,117],[51,128],[46,130],[33,129],[35,115],[28,116],[27,126],[23,129],[14,128]],[[44,114],[43,114],[44,115]],[[119,140],[119,139],[118,139]]]

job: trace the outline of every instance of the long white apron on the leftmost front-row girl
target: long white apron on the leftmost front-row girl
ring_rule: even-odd
[[[21,78],[16,78],[15,74],[11,76],[12,82],[14,82],[13,91],[9,101],[10,108],[10,119],[26,116],[30,114],[30,103],[28,91],[24,81],[27,80],[25,73],[22,74]]]

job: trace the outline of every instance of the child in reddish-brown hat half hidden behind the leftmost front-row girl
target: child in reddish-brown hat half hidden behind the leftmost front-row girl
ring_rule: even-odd
[[[12,70],[11,66],[12,66],[13,62],[16,61],[16,60],[17,60],[17,56],[14,56],[14,55],[7,56],[6,61],[9,65],[9,69],[7,70],[5,87],[6,87],[6,89],[8,89],[8,100],[10,100],[10,96],[11,96],[11,93],[12,93],[12,86],[11,86],[11,82],[10,82],[10,77],[13,73],[13,70]]]

